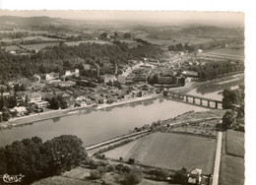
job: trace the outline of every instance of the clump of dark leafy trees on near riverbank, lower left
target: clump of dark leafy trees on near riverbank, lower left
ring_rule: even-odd
[[[39,137],[32,137],[0,148],[0,171],[23,174],[22,184],[28,184],[70,170],[86,157],[77,136],[62,135],[44,143]]]

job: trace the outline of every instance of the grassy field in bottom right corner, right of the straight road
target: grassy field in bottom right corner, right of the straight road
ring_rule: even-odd
[[[220,175],[220,185],[243,185],[244,158],[223,154]]]

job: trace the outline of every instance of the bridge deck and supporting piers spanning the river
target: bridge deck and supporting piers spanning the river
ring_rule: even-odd
[[[180,99],[182,101],[189,102],[189,103],[203,106],[203,107],[213,108],[213,107],[211,107],[210,102],[214,102],[215,108],[218,109],[219,108],[218,104],[223,104],[223,101],[221,101],[221,100],[212,99],[212,98],[208,98],[208,97],[202,97],[202,96],[198,96],[198,95],[186,94],[186,93],[166,92],[165,95],[171,96],[174,99]],[[184,98],[186,98],[186,99],[184,100]],[[189,101],[189,98],[193,98],[193,102]],[[200,104],[196,103],[196,99],[200,100]],[[204,105],[203,101],[207,101],[207,105]]]

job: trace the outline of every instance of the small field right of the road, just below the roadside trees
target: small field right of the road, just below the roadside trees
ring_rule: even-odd
[[[244,133],[234,130],[226,132],[225,140],[226,154],[244,157]]]

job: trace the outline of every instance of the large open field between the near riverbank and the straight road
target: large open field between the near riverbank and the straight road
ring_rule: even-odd
[[[168,169],[188,170],[199,167],[213,172],[216,140],[189,135],[155,133],[128,145],[104,153],[106,157],[127,160]]]

